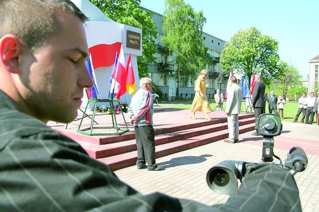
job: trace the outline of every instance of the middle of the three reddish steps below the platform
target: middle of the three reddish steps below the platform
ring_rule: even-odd
[[[249,123],[254,123],[255,118],[244,118],[240,119],[239,125],[245,125]],[[223,129],[227,129],[227,122],[217,123],[213,125],[205,125],[200,126],[196,128],[191,129],[184,129],[184,130],[178,130],[175,132],[169,132],[165,134],[156,135],[155,142],[156,145],[161,145],[189,137],[195,137],[211,132],[220,131]],[[156,130],[158,132],[158,130]],[[158,134],[158,133],[156,133]],[[134,139],[117,142],[117,143],[109,143],[109,144],[103,144],[103,145],[96,145],[90,142],[85,141],[77,141],[90,155],[90,157],[93,157],[95,159],[97,158],[104,158],[104,157],[110,157],[117,154],[123,154],[130,151],[137,150],[136,147],[136,140]]]

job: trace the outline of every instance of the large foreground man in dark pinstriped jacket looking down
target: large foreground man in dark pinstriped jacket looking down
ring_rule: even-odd
[[[293,176],[270,163],[223,205],[138,193],[45,125],[72,121],[93,86],[85,15],[69,0],[0,0],[0,19],[0,211],[301,211]]]

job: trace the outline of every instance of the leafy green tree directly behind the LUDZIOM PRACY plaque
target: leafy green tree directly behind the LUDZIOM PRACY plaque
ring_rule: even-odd
[[[143,56],[138,57],[139,77],[148,77],[148,64],[155,64],[156,46],[154,37],[157,37],[156,25],[152,13],[142,10],[140,0],[90,0],[106,16],[112,20],[141,28]]]

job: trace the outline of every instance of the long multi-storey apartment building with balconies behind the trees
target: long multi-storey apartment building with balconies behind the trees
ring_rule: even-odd
[[[157,64],[149,64],[149,75],[152,82],[159,86],[162,91],[162,99],[172,101],[176,98],[176,82],[174,79],[169,78],[169,74],[175,70],[175,64],[172,62],[168,52],[163,48],[161,44],[161,38],[163,37],[162,23],[163,16],[147,8],[141,7],[142,9],[154,13],[152,19],[157,26],[157,53],[155,57],[157,58]],[[221,52],[224,48],[225,41],[214,37],[207,33],[202,33],[202,39],[205,46],[209,49],[209,54],[212,56],[212,65],[209,67],[198,67],[198,73],[202,69],[207,69],[209,75],[206,77],[207,87],[207,97],[213,99],[214,94],[217,89],[221,89],[222,92],[225,90],[226,82],[223,84],[218,84],[219,77],[223,74],[220,58],[222,57]],[[179,79],[179,97],[182,99],[193,99],[194,97],[194,81],[196,79],[189,79],[187,81],[187,76],[180,76]],[[224,92],[223,92],[224,93]]]

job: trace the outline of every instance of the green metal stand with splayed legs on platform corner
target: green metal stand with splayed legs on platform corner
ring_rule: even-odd
[[[93,114],[92,114],[92,118],[91,118],[91,125],[88,128],[81,129],[83,118],[86,117],[85,116],[86,110],[88,108],[89,103],[91,103],[91,102],[94,103]],[[110,103],[112,124],[113,124],[112,126],[93,126],[93,124],[95,122],[94,121],[94,117],[95,117],[95,111],[96,111],[97,103]],[[118,124],[117,124],[117,121],[116,121],[114,103],[118,103],[118,106],[120,107],[120,111],[121,111],[121,114],[123,116],[123,120],[124,120],[126,128],[118,127]],[[113,132],[93,132],[93,129],[115,129],[116,132],[114,130],[113,130]],[[121,135],[121,134],[124,134],[124,133],[126,133],[128,131],[129,131],[129,128],[128,128],[128,125],[126,123],[122,108],[120,106],[120,100],[118,100],[118,99],[115,100],[113,98],[110,98],[110,99],[97,99],[97,98],[95,98],[93,100],[90,100],[88,98],[88,103],[86,104],[86,107],[85,107],[83,116],[81,118],[81,122],[80,122],[80,125],[78,127],[77,132],[85,134],[85,135]]]

